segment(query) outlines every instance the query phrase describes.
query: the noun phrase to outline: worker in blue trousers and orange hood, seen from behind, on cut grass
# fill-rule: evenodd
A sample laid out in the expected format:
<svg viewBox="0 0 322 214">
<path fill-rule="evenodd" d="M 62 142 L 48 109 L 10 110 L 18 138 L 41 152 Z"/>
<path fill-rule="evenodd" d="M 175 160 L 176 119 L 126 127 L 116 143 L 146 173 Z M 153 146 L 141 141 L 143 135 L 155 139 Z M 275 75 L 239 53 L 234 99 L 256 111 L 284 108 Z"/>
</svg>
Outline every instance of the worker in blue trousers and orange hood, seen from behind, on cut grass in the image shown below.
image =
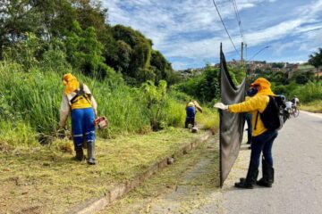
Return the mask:
<svg viewBox="0 0 322 214">
<path fill-rule="evenodd" d="M 97 103 L 89 87 L 80 83 L 71 73 L 62 78 L 64 92 L 60 109 L 59 127 L 64 128 L 68 115 L 72 116 L 72 139 L 76 152 L 75 160 L 83 161 L 83 142 L 88 148 L 87 162 L 96 164 L 95 160 L 95 126 Z"/>
</svg>

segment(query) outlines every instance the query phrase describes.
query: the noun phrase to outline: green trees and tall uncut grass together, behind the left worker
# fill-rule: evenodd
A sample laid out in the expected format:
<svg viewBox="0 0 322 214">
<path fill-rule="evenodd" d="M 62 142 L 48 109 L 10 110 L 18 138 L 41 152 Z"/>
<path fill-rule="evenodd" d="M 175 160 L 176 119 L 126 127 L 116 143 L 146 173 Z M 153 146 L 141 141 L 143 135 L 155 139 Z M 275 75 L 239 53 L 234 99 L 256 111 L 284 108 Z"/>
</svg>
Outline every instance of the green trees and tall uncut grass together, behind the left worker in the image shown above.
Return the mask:
<svg viewBox="0 0 322 214">
<path fill-rule="evenodd" d="M 183 127 L 191 96 L 170 89 L 179 80 L 171 64 L 139 31 L 110 26 L 99 2 L 2 1 L 0 11 L 0 150 L 57 136 L 67 72 L 108 117 L 99 136 Z"/>
</svg>

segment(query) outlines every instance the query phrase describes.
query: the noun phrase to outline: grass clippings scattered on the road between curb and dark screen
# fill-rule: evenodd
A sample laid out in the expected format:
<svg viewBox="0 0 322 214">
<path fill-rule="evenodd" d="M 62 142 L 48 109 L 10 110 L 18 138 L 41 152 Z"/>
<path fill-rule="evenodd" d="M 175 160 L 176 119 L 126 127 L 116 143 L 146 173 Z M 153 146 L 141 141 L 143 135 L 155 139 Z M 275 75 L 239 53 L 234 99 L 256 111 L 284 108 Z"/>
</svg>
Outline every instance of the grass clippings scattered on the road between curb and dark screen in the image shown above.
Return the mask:
<svg viewBox="0 0 322 214">
<path fill-rule="evenodd" d="M 215 141 L 216 144 L 209 144 L 209 141 Z M 201 162 L 206 164 L 200 166 Z M 196 168 L 200 170 L 198 173 Z M 194 172 L 191 173 L 191 170 Z M 181 191 L 183 188 L 191 193 L 174 196 L 178 186 Z M 99 213 L 194 213 L 193 209 L 208 204 L 209 194 L 218 191 L 218 186 L 219 149 L 217 138 L 213 138 Z M 177 206 L 174 207 L 174 204 Z M 156 207 L 158 211 L 152 211 Z"/>
</svg>

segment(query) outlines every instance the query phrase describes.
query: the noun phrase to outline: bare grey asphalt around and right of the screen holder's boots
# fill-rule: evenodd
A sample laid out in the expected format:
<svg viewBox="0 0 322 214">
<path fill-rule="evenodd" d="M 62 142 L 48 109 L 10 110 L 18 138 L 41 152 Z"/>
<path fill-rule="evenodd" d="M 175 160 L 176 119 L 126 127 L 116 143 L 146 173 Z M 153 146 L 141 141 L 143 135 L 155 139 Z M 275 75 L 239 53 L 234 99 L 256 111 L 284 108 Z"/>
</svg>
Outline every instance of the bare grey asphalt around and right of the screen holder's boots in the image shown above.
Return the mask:
<svg viewBox="0 0 322 214">
<path fill-rule="evenodd" d="M 248 161 L 249 152 L 241 153 Z M 236 177 L 246 175 L 237 161 L 224 186 L 221 209 L 209 206 L 206 213 L 322 213 L 322 114 L 301 111 L 289 119 L 275 140 L 273 159 L 272 188 L 234 188 Z"/>
</svg>

